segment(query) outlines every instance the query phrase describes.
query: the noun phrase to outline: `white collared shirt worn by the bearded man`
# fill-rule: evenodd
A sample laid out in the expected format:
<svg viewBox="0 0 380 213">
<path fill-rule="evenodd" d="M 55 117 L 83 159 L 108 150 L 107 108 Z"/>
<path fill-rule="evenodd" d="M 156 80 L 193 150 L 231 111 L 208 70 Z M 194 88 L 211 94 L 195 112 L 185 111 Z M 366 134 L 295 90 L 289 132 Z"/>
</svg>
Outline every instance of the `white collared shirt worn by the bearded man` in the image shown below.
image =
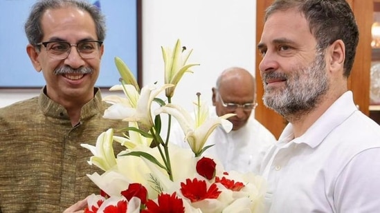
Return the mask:
<svg viewBox="0 0 380 213">
<path fill-rule="evenodd" d="M 266 212 L 380 212 L 380 126 L 345 92 L 303 134 L 266 154 Z"/>
</svg>

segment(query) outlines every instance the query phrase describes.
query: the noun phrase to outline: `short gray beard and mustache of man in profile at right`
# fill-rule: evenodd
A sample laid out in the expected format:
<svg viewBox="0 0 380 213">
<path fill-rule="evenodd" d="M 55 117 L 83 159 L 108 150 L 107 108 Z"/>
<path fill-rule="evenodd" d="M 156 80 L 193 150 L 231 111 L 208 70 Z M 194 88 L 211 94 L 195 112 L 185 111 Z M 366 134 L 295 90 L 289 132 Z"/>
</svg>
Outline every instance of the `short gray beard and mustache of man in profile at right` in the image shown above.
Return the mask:
<svg viewBox="0 0 380 213">
<path fill-rule="evenodd" d="M 288 121 L 300 119 L 316 108 L 329 89 L 325 68 L 325 55 L 319 52 L 309 66 L 288 74 L 275 71 L 264 73 L 263 83 L 266 79 L 286 79 L 284 88 L 269 88 L 264 83 L 264 105 Z"/>
</svg>

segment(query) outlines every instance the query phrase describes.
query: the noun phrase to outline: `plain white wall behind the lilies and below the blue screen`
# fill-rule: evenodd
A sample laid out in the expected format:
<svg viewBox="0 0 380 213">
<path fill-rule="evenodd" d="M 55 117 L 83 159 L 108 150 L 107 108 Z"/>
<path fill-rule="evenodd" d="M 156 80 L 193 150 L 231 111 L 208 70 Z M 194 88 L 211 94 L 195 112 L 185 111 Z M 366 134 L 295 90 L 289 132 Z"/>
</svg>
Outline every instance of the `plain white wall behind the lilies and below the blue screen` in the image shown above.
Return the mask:
<svg viewBox="0 0 380 213">
<path fill-rule="evenodd" d="M 197 92 L 210 102 L 211 88 L 225 68 L 241 66 L 254 74 L 255 11 L 253 0 L 143 1 L 143 84 L 163 83 L 161 45 L 172 47 L 177 39 L 193 49 L 189 62 L 201 64 L 185 74 L 173 99 L 188 110 Z M 0 107 L 38 93 L 0 90 Z"/>
</svg>

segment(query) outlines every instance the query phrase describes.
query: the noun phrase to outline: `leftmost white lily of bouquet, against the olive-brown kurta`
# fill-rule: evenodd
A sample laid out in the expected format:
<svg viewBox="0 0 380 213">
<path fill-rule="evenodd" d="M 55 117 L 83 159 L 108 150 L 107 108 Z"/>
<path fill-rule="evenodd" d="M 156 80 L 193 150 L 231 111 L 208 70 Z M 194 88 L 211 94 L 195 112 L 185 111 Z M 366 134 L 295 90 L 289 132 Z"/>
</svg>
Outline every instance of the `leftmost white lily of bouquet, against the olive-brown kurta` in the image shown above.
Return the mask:
<svg viewBox="0 0 380 213">
<path fill-rule="evenodd" d="M 83 148 L 87 148 L 91 151 L 89 164 L 96 165 L 98 168 L 107 171 L 116 165 L 116 159 L 114 154 L 114 148 L 112 142 L 114 141 L 114 129 L 109 129 L 107 132 L 102 132 L 98 136 L 96 146 L 89 144 L 80 144 Z"/>
</svg>

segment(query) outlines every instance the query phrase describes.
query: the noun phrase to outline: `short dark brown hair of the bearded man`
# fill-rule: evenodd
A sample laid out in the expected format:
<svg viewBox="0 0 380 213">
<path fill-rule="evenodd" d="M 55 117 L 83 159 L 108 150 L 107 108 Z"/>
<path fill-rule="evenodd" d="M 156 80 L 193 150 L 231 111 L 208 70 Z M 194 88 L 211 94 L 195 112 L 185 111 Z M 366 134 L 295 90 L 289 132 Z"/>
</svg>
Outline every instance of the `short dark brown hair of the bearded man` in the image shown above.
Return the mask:
<svg viewBox="0 0 380 213">
<path fill-rule="evenodd" d="M 359 29 L 354 12 L 345 0 L 275 0 L 266 9 L 265 21 L 276 11 L 296 8 L 305 15 L 311 33 L 318 41 L 317 49 L 325 50 L 334 41 L 341 39 L 345 44 L 345 77 L 350 76 L 354 64 Z"/>
</svg>

